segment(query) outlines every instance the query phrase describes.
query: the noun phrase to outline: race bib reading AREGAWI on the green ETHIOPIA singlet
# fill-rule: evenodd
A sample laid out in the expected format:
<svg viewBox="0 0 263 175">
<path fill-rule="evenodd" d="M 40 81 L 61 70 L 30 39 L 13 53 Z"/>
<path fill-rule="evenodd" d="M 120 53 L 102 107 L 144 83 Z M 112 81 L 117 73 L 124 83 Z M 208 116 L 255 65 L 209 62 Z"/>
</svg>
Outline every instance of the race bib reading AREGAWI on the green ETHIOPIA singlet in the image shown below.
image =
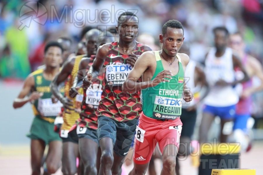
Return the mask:
<svg viewBox="0 0 263 175">
<path fill-rule="evenodd" d="M 182 113 L 182 99 L 155 96 L 153 116 L 158 119 L 174 120 Z"/>
</svg>

